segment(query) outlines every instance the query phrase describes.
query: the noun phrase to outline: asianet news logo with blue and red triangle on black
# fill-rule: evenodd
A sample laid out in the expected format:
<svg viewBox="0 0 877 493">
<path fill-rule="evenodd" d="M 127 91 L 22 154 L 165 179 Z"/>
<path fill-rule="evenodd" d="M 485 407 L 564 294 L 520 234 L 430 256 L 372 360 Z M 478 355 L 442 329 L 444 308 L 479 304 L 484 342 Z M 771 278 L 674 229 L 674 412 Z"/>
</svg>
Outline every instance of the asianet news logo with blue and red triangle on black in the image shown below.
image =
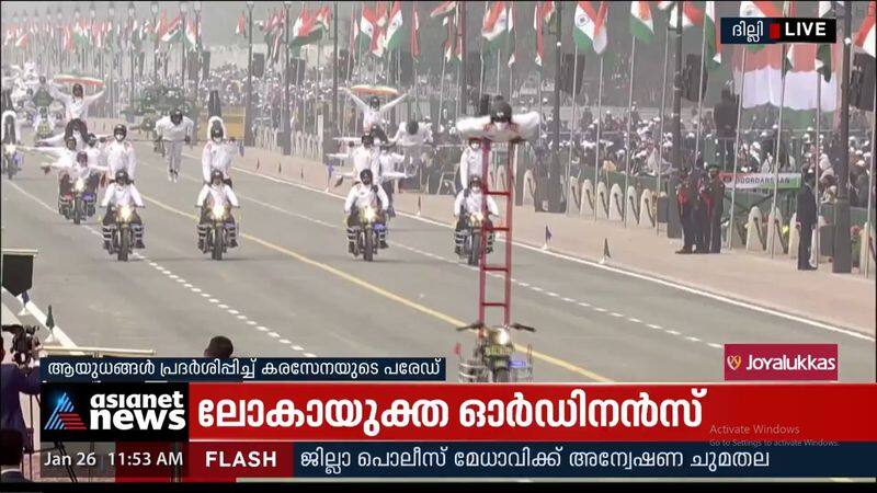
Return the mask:
<svg viewBox="0 0 877 493">
<path fill-rule="evenodd" d="M 46 442 L 189 438 L 185 383 L 44 383 L 41 393 Z"/>
</svg>

